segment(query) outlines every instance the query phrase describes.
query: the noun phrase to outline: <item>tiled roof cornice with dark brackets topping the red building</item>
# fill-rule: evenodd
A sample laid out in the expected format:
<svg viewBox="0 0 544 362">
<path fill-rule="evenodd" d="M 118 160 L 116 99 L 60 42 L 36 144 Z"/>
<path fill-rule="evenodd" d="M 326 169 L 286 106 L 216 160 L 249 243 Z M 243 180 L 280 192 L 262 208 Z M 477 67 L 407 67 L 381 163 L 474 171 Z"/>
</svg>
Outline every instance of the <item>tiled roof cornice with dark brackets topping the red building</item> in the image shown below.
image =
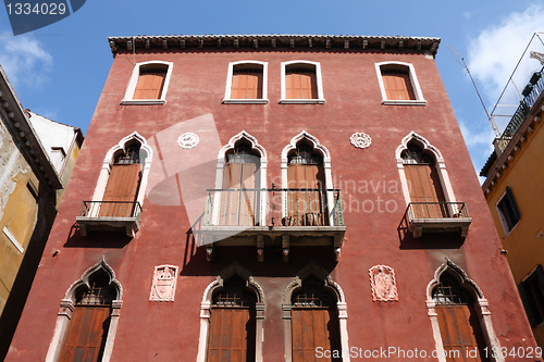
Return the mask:
<svg viewBox="0 0 544 362">
<path fill-rule="evenodd" d="M 115 57 L 120 51 L 186 50 L 202 48 L 232 49 L 312 49 L 321 51 L 396 51 L 436 55 L 440 38 L 404 36 L 359 35 L 163 35 L 109 37 L 110 48 Z"/>
</svg>

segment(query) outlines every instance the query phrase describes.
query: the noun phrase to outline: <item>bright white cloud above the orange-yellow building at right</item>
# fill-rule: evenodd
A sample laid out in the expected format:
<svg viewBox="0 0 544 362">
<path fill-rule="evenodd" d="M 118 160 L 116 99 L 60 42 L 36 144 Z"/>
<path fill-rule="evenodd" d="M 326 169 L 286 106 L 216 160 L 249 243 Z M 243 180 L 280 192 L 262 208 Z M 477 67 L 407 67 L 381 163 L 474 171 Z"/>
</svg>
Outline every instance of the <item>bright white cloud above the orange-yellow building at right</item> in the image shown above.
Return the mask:
<svg viewBox="0 0 544 362">
<path fill-rule="evenodd" d="M 535 32 L 544 30 L 543 18 L 544 8 L 540 3 L 534 3 L 524 12 L 511 13 L 498 25 L 485 28 L 470 41 L 469 67 L 483 86 L 490 101 L 497 100 L 531 36 Z M 533 70 L 534 66 L 539 66 L 536 61 L 531 60 L 531 62 L 529 66 Z M 527 74 L 523 77 L 527 77 Z M 521 87 L 527 80 L 522 82 Z"/>
</svg>

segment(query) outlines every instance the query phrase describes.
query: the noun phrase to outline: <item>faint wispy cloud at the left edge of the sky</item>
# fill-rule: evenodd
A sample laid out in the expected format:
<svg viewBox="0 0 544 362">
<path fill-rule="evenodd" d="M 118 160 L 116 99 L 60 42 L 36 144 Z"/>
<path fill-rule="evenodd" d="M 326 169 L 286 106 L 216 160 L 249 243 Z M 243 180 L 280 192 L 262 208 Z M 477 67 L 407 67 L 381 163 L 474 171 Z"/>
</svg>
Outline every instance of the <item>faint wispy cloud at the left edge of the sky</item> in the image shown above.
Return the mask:
<svg viewBox="0 0 544 362">
<path fill-rule="evenodd" d="M 32 35 L 0 34 L 0 64 L 13 85 L 36 86 L 47 79 L 53 58 Z"/>
</svg>

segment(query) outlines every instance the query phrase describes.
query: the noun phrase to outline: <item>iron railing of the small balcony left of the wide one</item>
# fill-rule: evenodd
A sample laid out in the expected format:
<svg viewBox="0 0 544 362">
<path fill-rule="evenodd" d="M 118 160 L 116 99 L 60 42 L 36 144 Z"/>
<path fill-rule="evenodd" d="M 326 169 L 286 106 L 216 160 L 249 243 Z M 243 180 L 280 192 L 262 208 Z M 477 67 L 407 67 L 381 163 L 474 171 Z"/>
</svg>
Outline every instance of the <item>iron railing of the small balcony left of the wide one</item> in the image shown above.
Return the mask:
<svg viewBox="0 0 544 362">
<path fill-rule="evenodd" d="M 83 201 L 81 217 L 135 217 L 139 221 L 141 205 L 138 201 Z"/>
</svg>

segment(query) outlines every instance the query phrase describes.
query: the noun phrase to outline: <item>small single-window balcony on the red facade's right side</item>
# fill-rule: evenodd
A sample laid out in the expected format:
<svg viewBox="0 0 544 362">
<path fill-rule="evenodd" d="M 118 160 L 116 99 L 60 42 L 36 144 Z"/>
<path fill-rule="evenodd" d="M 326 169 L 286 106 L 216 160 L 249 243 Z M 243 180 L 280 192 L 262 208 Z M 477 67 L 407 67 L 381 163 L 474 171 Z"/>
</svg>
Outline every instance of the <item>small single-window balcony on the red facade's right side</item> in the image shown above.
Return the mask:
<svg viewBox="0 0 544 362">
<path fill-rule="evenodd" d="M 444 232 L 460 232 L 466 238 L 472 222 L 465 202 L 410 202 L 404 220 L 415 238 Z"/>
</svg>

